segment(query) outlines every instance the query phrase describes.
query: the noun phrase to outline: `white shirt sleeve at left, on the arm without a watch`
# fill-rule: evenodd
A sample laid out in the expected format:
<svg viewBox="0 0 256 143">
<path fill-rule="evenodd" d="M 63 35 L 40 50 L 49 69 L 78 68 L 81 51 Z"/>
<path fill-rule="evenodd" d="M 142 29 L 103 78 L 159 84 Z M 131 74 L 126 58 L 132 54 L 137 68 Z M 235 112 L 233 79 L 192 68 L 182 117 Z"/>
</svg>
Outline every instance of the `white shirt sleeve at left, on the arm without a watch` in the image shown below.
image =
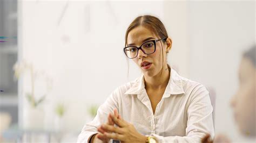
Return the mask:
<svg viewBox="0 0 256 143">
<path fill-rule="evenodd" d="M 82 131 L 78 135 L 77 143 L 89 142 L 92 135 L 98 133 L 97 127 L 103 123 L 106 123 L 109 113 L 113 112 L 115 108 L 118 110 L 117 90 L 112 92 L 110 97 L 99 106 L 96 117 L 84 125 Z"/>
</svg>

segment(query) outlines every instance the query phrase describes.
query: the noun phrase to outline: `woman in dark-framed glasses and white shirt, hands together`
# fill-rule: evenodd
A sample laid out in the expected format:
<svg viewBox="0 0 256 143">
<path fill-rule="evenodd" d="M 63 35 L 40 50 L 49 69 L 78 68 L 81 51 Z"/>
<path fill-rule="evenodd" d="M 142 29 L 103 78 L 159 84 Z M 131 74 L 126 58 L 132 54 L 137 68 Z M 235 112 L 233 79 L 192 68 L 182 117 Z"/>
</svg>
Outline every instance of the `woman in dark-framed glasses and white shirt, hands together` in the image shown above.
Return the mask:
<svg viewBox="0 0 256 143">
<path fill-rule="evenodd" d="M 124 53 L 143 75 L 113 91 L 77 142 L 200 142 L 207 132 L 214 136 L 209 93 L 167 65 L 171 47 L 158 18 L 133 20 Z"/>
</svg>

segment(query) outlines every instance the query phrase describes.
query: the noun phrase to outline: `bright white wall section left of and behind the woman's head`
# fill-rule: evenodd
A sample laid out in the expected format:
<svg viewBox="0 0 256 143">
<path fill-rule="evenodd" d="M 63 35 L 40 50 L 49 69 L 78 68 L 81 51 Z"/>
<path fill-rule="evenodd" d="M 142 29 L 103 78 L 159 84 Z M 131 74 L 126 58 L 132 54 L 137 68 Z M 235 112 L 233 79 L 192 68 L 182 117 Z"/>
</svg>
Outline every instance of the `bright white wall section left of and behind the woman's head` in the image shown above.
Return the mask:
<svg viewBox="0 0 256 143">
<path fill-rule="evenodd" d="M 66 6 L 65 1 L 23 1 L 20 9 L 21 57 L 53 77 L 45 109 L 47 124 L 51 127 L 54 104 L 64 102 L 65 125 L 76 131 L 87 121 L 89 106 L 102 104 L 119 85 L 140 75 L 130 62 L 127 78 L 126 28 L 139 15 L 163 18 L 164 12 L 163 2 L 70 1 Z M 23 92 L 30 88 L 29 82 L 24 78 L 20 84 Z"/>
</svg>

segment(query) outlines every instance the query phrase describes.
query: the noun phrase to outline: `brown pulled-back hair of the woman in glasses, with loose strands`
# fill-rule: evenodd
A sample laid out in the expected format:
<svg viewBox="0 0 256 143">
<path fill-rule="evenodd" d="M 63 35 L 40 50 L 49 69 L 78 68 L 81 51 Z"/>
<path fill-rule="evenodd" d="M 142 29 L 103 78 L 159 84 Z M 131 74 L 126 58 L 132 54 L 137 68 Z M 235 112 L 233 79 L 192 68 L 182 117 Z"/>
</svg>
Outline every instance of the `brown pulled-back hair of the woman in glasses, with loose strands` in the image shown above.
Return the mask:
<svg viewBox="0 0 256 143">
<path fill-rule="evenodd" d="M 157 17 L 150 16 L 150 15 L 144 15 L 144 16 L 139 16 L 139 17 L 135 18 L 133 20 L 133 22 L 127 28 L 126 33 L 125 33 L 125 46 L 127 45 L 127 37 L 128 37 L 129 32 L 138 26 L 144 26 L 146 28 L 149 28 L 160 39 L 168 38 L 168 34 L 166 32 L 164 24 Z M 163 66 L 164 66 L 163 46 L 162 46 L 162 57 L 163 57 L 163 63 L 162 63 L 161 73 L 163 73 Z M 129 75 L 129 63 L 128 63 L 127 75 Z"/>
</svg>

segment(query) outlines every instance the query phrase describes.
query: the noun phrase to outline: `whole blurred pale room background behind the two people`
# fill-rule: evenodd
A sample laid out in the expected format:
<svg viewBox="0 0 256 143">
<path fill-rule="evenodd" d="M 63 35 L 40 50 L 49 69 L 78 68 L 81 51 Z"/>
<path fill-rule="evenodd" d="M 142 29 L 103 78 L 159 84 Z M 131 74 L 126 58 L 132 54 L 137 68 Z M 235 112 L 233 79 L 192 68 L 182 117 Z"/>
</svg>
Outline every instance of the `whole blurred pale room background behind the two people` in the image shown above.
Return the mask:
<svg viewBox="0 0 256 143">
<path fill-rule="evenodd" d="M 160 18 L 169 64 L 210 90 L 215 132 L 255 142 L 230 108 L 242 52 L 255 44 L 255 1 L 71 0 L 0 0 L 0 142 L 76 142 L 111 92 L 141 74 L 123 54 L 140 15 Z"/>
</svg>

